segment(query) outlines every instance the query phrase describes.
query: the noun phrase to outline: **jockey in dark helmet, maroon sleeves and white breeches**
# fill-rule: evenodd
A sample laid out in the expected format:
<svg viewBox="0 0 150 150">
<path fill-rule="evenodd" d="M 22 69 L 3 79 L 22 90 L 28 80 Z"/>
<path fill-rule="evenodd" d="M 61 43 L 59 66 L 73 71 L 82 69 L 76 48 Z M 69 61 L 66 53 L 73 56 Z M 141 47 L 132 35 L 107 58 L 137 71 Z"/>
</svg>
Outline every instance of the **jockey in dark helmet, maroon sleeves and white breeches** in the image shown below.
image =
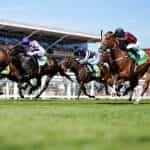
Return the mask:
<svg viewBox="0 0 150 150">
<path fill-rule="evenodd" d="M 118 28 L 115 30 L 114 33 L 115 37 L 120 42 L 120 47 L 127 51 L 131 51 L 136 58 L 139 58 L 138 49 L 139 43 L 137 38 L 130 32 L 125 32 L 122 28 Z"/>
</svg>

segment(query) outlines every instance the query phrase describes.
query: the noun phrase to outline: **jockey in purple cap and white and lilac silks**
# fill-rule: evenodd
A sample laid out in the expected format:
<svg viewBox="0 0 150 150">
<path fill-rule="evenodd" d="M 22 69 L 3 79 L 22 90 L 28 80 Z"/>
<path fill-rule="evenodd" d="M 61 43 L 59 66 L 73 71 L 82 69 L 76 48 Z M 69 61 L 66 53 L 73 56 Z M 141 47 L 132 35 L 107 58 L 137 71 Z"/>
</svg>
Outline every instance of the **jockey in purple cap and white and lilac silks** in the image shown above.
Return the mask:
<svg viewBox="0 0 150 150">
<path fill-rule="evenodd" d="M 29 47 L 27 55 L 37 56 L 38 64 L 40 66 L 45 65 L 45 62 L 47 60 L 46 50 L 36 40 L 30 41 L 28 37 L 24 37 L 21 43 Z M 44 61 L 44 64 L 41 64 L 42 61 Z"/>
</svg>

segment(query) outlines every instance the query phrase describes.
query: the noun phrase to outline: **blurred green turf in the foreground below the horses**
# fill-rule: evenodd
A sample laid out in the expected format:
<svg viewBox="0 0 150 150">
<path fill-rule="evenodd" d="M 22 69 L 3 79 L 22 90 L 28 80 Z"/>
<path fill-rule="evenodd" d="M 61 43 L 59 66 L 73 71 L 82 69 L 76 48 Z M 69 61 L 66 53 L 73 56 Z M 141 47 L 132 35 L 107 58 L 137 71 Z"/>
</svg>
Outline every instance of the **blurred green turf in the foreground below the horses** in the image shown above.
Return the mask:
<svg viewBox="0 0 150 150">
<path fill-rule="evenodd" d="M 149 150 L 150 101 L 0 100 L 0 150 Z"/>
</svg>

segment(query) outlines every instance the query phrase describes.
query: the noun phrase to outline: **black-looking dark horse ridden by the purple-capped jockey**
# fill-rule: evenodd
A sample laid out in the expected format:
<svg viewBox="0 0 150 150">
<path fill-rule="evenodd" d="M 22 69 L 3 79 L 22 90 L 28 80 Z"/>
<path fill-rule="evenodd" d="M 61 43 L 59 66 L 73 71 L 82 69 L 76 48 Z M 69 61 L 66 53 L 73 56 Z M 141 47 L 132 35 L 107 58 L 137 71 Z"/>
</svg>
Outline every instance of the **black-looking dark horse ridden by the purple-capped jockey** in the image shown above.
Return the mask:
<svg viewBox="0 0 150 150">
<path fill-rule="evenodd" d="M 46 81 L 41 88 L 40 92 L 35 96 L 35 98 L 39 98 L 40 95 L 46 90 L 48 87 L 48 83 L 52 79 L 54 75 L 58 72 L 61 76 L 65 76 L 67 79 L 72 81 L 72 79 L 60 68 L 55 57 L 47 55 L 47 63 L 41 68 L 38 65 L 37 59 L 35 57 L 28 56 L 26 54 L 28 47 L 24 47 L 22 45 L 18 45 L 10 51 L 11 60 L 14 66 L 19 70 L 19 72 L 23 75 L 24 71 L 27 71 L 27 76 L 22 76 L 21 81 L 28 81 L 28 85 L 30 85 L 29 94 L 32 91 L 38 89 L 41 86 L 41 79 L 44 75 L 46 75 Z M 36 85 L 32 85 L 29 80 L 36 79 Z M 23 98 L 23 94 L 20 93 L 20 96 Z"/>
</svg>

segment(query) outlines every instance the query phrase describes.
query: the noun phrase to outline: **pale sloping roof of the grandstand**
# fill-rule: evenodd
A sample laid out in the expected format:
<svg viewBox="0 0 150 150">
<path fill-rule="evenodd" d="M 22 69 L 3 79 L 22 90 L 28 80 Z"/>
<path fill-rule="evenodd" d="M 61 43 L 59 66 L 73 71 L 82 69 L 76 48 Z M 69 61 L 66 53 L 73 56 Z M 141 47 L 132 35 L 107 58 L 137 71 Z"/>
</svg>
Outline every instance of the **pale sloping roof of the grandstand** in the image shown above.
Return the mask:
<svg viewBox="0 0 150 150">
<path fill-rule="evenodd" d="M 55 29 L 31 24 L 29 25 L 5 20 L 0 20 L 0 31 L 14 33 L 22 36 L 36 32 L 34 36 L 36 35 L 45 39 L 59 39 L 63 36 L 66 36 L 65 40 L 70 42 L 99 42 L 99 36 L 94 34 L 66 31 L 63 29 Z"/>
</svg>

